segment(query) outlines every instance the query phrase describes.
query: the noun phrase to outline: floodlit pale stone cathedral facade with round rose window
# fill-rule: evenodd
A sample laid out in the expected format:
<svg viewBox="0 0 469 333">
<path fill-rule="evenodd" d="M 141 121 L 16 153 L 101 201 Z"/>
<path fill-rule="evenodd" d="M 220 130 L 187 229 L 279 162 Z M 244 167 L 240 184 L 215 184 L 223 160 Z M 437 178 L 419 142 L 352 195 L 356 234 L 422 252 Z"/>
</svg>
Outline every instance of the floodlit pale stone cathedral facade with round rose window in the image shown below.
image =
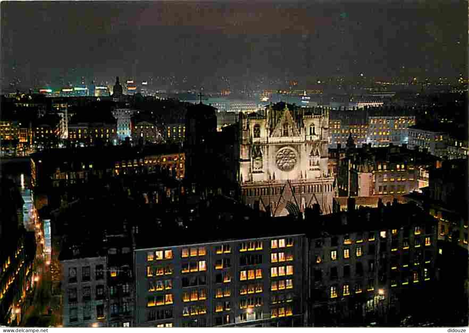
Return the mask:
<svg viewBox="0 0 469 333">
<path fill-rule="evenodd" d="M 329 110 L 283 103 L 239 120 L 243 201 L 273 216 L 303 212 L 319 203 L 332 211 L 333 177 L 327 169 Z"/>
</svg>

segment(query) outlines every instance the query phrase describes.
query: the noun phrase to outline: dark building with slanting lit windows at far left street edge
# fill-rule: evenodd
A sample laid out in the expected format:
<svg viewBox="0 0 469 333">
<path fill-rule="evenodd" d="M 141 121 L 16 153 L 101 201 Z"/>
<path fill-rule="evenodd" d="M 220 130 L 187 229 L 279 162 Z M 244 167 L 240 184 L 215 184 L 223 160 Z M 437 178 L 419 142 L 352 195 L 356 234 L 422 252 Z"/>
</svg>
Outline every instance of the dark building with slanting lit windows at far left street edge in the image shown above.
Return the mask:
<svg viewBox="0 0 469 333">
<path fill-rule="evenodd" d="M 0 323 L 19 326 L 34 289 L 34 233 L 23 226 L 23 199 L 17 185 L 0 179 Z"/>
</svg>

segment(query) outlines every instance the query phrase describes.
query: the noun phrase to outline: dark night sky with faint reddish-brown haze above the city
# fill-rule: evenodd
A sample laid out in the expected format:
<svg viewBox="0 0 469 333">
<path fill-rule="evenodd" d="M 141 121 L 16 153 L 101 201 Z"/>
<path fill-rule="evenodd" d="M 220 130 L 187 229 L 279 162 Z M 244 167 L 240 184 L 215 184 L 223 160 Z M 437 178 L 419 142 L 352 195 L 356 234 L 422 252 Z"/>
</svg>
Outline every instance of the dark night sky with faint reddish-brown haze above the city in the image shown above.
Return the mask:
<svg viewBox="0 0 469 333">
<path fill-rule="evenodd" d="M 467 73 L 467 11 L 452 0 L 3 1 L 3 83 L 453 77 Z"/>
</svg>

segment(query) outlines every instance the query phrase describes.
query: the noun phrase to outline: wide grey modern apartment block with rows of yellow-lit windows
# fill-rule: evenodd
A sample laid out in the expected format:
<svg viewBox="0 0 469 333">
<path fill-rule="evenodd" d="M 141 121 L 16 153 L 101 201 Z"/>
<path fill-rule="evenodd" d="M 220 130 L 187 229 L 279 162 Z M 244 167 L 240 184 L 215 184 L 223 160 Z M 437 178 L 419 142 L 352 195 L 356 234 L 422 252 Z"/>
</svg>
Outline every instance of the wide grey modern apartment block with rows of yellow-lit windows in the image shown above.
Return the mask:
<svg viewBox="0 0 469 333">
<path fill-rule="evenodd" d="M 304 234 L 274 236 L 248 223 L 237 224 L 241 232 L 221 228 L 216 240 L 180 228 L 178 237 L 139 244 L 140 230 L 136 326 L 304 326 Z"/>
</svg>

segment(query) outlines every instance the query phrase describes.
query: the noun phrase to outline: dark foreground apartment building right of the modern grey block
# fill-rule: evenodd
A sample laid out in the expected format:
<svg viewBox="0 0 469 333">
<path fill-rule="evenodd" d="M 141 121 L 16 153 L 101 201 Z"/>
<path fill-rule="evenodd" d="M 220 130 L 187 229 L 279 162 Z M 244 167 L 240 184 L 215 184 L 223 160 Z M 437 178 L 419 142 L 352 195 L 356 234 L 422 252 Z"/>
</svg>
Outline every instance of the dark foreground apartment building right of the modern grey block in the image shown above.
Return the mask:
<svg viewBox="0 0 469 333">
<path fill-rule="evenodd" d="M 412 203 L 348 205 L 314 223 L 309 324 L 396 324 L 436 288 L 437 222 Z"/>
</svg>

